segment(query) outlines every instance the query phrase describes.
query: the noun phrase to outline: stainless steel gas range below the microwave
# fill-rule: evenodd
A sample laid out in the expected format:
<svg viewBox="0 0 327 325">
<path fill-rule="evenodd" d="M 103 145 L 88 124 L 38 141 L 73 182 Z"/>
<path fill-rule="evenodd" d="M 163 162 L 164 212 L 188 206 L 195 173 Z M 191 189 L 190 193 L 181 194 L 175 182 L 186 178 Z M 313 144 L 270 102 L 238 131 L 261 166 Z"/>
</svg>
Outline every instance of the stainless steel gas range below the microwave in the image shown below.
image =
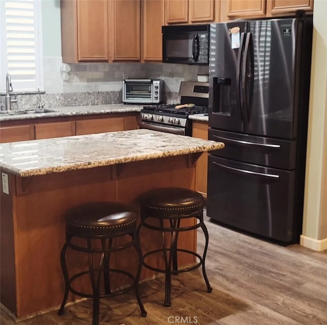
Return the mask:
<svg viewBox="0 0 327 325">
<path fill-rule="evenodd" d="M 189 115 L 208 112 L 209 84 L 181 81 L 179 96 L 178 104 L 144 106 L 139 127 L 191 136 L 192 120 Z"/>
</svg>

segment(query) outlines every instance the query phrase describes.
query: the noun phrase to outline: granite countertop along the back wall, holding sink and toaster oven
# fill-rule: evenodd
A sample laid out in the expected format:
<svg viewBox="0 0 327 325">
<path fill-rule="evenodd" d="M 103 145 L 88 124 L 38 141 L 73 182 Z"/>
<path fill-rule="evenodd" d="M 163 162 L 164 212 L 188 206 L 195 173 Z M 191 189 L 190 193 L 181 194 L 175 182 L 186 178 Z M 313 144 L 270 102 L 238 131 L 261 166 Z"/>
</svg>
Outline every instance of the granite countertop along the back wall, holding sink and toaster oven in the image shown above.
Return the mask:
<svg viewBox="0 0 327 325">
<path fill-rule="evenodd" d="M 42 119 L 42 118 L 57 118 L 73 115 L 91 115 L 91 114 L 107 114 L 107 113 L 129 113 L 139 112 L 144 105 L 137 104 L 103 104 L 103 105 L 85 105 L 85 106 L 61 106 L 61 107 L 46 107 L 45 109 L 52 110 L 47 113 L 24 113 L 24 114 L 0 114 L 0 122 L 15 121 L 26 119 Z M 20 112 L 23 112 L 21 110 Z"/>
</svg>

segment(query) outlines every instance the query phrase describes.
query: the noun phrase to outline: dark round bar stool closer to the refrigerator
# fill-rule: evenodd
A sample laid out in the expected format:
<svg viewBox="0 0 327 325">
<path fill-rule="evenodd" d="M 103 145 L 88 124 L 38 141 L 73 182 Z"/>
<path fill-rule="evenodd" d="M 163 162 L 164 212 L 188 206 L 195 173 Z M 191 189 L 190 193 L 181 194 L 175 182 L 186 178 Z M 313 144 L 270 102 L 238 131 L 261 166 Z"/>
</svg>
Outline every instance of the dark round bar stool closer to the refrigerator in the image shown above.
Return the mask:
<svg viewBox="0 0 327 325">
<path fill-rule="evenodd" d="M 212 292 L 206 272 L 205 256 L 208 247 L 208 231 L 203 222 L 203 197 L 201 194 L 182 188 L 160 188 L 143 193 L 139 197 L 141 208 L 141 224 L 137 228 L 139 238 L 142 227 L 160 231 L 161 248 L 151 250 L 143 255 L 143 265 L 153 271 L 165 273 L 165 307 L 171 306 L 171 275 L 181 272 L 192 271 L 202 265 L 202 273 L 208 292 Z M 198 223 L 192 226 L 181 226 L 180 221 L 188 218 L 197 218 Z M 159 222 L 159 225 L 151 224 L 151 219 Z M 205 236 L 205 246 L 202 257 L 191 250 L 177 248 L 178 234 L 180 231 L 188 231 L 201 227 Z M 170 242 L 167 235 L 170 234 Z M 149 265 L 146 258 L 156 253 L 163 253 L 165 269 Z M 177 252 L 193 254 L 199 262 L 191 267 L 178 269 Z"/>
</svg>

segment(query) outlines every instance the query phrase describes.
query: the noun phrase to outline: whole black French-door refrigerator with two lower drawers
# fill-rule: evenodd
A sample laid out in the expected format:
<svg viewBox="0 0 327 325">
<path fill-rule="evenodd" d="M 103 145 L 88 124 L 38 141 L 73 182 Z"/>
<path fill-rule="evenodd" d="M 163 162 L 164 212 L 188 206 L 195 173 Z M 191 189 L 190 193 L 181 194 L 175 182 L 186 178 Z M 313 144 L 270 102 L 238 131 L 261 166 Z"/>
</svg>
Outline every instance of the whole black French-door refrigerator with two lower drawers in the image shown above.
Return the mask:
<svg viewBox="0 0 327 325">
<path fill-rule="evenodd" d="M 281 244 L 302 227 L 312 17 L 211 24 L 207 215 Z"/>
</svg>

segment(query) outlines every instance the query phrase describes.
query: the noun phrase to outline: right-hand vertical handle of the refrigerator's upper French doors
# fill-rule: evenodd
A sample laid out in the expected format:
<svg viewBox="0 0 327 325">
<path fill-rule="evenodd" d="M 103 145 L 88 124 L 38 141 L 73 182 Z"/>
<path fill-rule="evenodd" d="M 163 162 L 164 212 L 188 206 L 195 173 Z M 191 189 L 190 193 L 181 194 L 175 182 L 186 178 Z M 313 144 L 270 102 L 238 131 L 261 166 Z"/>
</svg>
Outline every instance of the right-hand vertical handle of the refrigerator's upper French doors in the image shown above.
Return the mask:
<svg viewBox="0 0 327 325">
<path fill-rule="evenodd" d="M 245 106 L 245 113 L 247 116 L 247 121 L 250 121 L 250 99 L 247 99 L 247 87 L 246 87 L 246 78 L 251 78 L 251 84 L 250 84 L 250 96 L 252 96 L 252 91 L 253 91 L 253 47 L 250 48 L 250 44 L 252 45 L 252 34 L 251 33 L 246 33 L 246 39 L 245 39 L 245 47 L 244 47 L 244 58 L 243 58 L 243 64 L 242 64 L 242 98 L 243 98 L 243 103 Z M 247 58 L 248 58 L 248 53 L 250 49 L 250 74 L 249 76 L 246 75 L 246 67 L 247 67 Z"/>
</svg>

